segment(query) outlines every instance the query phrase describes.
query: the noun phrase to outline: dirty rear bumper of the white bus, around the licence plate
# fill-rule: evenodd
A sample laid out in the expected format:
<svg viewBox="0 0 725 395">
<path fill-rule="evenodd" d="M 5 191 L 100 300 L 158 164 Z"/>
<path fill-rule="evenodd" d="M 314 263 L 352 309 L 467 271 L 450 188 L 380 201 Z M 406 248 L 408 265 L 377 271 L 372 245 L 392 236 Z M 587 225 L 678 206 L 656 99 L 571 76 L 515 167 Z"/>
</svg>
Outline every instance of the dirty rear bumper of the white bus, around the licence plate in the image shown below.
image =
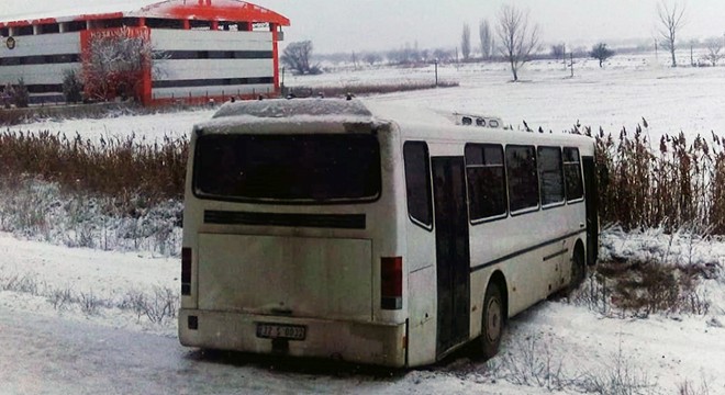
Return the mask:
<svg viewBox="0 0 725 395">
<path fill-rule="evenodd" d="M 304 327 L 303 340 L 259 337 L 258 324 Z M 196 328 L 196 329 L 193 329 Z M 406 325 L 252 315 L 181 308 L 183 346 L 405 366 Z"/>
</svg>

